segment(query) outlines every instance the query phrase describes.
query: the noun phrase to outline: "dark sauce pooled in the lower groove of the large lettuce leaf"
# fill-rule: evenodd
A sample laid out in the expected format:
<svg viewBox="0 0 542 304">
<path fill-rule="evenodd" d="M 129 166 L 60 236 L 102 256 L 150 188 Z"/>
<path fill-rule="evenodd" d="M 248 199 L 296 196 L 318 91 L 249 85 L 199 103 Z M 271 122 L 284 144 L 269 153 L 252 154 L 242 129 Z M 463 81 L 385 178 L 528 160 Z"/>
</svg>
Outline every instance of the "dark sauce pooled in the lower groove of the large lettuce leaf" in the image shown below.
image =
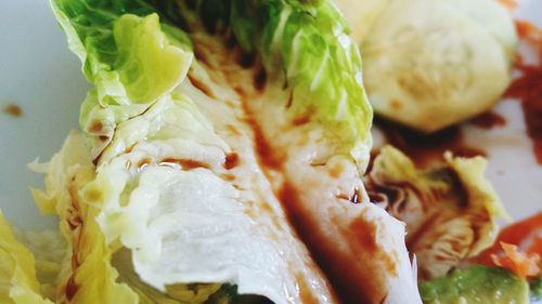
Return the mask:
<svg viewBox="0 0 542 304">
<path fill-rule="evenodd" d="M 387 253 L 377 246 L 375 224 L 360 216 L 351 225 L 341 228 L 340 235 L 348 239 L 346 252 L 337 248 L 326 234 L 318 233 L 318 216 L 313 216 L 299 193 L 288 183 L 283 184 L 279 198 L 286 211 L 288 222 L 295 227 L 304 240 L 310 254 L 328 278 L 340 303 L 378 303 L 386 298 L 385 277 L 382 265 L 391 274 L 396 274 L 396 264 Z M 340 221 L 336 219 L 335 221 Z M 333 219 L 332 219 L 333 221 Z M 340 225 L 337 225 L 340 227 Z M 356 254 L 360 263 L 352 264 L 345 255 Z M 366 261 L 383 263 L 366 263 Z M 370 275 L 367 275 L 370 274 Z M 371 280 L 366 278 L 371 277 Z M 363 288 L 360 288 L 363 286 Z"/>
</svg>

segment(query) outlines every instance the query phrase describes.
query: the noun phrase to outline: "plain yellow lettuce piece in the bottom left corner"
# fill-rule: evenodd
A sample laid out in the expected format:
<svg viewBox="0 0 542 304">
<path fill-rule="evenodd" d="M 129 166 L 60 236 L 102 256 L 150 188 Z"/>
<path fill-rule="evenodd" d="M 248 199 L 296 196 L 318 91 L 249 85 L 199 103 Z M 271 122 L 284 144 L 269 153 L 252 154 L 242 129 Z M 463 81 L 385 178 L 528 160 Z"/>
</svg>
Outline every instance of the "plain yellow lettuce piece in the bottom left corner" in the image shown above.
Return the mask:
<svg viewBox="0 0 542 304">
<path fill-rule="evenodd" d="M 0 211 L 0 303 L 52 304 L 40 294 L 33 253 L 15 238 Z"/>
</svg>

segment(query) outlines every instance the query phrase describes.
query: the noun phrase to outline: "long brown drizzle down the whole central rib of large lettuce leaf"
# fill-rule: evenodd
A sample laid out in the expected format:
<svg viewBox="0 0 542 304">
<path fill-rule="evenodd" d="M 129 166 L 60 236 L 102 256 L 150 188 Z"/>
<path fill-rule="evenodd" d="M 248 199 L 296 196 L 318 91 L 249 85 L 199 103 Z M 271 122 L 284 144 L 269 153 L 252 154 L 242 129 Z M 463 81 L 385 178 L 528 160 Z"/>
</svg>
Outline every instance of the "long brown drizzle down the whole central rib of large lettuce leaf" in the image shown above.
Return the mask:
<svg viewBox="0 0 542 304">
<path fill-rule="evenodd" d="M 236 51 L 236 49 L 232 50 L 232 52 Z M 235 58 L 238 58 L 238 56 L 233 60 Z M 228 63 L 231 64 L 231 62 Z M 247 58 L 244 65 L 251 65 L 251 60 Z M 229 79 L 228 74 L 232 72 L 231 67 L 220 66 L 218 68 L 223 69 L 227 79 Z M 235 69 L 233 69 L 233 71 L 235 71 Z M 257 95 L 253 94 L 260 94 L 261 92 L 258 92 L 258 90 L 253 91 L 253 89 L 257 88 L 247 87 L 255 83 L 236 84 L 238 82 L 235 81 L 235 79 L 231 80 L 231 83 L 242 101 L 241 106 L 245 114 L 244 120 L 248 127 L 250 127 L 250 131 L 254 135 L 254 147 L 260 167 L 263 169 L 266 175 L 273 170 L 282 169 L 287 158 L 287 149 L 275 149 L 275 147 L 271 145 L 259 121 L 253 116 L 249 107 L 250 100 L 257 97 Z M 291 106 L 292 102 L 293 94 L 291 94 L 288 105 L 286 106 Z M 268 177 L 269 176 L 272 175 L 270 174 Z M 363 252 L 363 244 L 360 243 L 360 240 L 357 240 L 357 234 L 359 232 L 352 232 L 348 223 L 341 223 L 340 221 L 344 219 L 341 219 L 339 214 L 335 217 L 331 216 L 332 219 L 324 219 L 336 222 L 333 226 L 337 227 L 339 232 L 334 233 L 335 237 L 348 240 L 353 239 L 351 241 L 352 243 L 348 241 L 345 242 L 345 246 L 341 246 L 343 243 L 339 246 L 336 238 L 330 237 L 328 234 L 322 230 L 322 217 L 315 215 L 313 210 L 310 210 L 311 206 L 304 201 L 301 193 L 298 193 L 295 186 L 286 181 L 282 184 L 282 187 L 276 189 L 275 194 L 287 214 L 289 224 L 293 225 L 299 238 L 308 247 L 317 265 L 324 270 L 326 278 L 332 282 L 330 289 L 331 295 L 333 296 L 332 302 L 338 302 L 335 300 L 335 294 L 339 294 L 343 300 L 338 303 L 379 303 L 386 299 L 386 270 L 384 270 L 383 267 L 391 269 L 392 264 L 387 266 L 380 264 L 386 263 L 386 261 L 377 262 L 376 264 L 366 263 L 366 261 L 373 261 L 375 259 L 371 255 L 375 252 Z M 352 201 L 358 201 L 358 197 L 359 194 L 354 191 L 354 195 L 350 197 L 350 199 Z M 363 219 L 359 221 L 363 221 Z M 367 222 L 367 225 L 373 224 L 374 229 L 375 223 Z M 380 248 L 377 249 L 380 250 Z M 353 256 L 356 256 L 356 259 L 353 259 Z M 376 259 L 378 259 L 378 256 Z M 388 256 L 388 259 L 393 262 L 393 256 Z M 352 261 L 354 264 L 353 266 Z M 302 285 L 300 281 L 298 281 L 298 283 Z M 306 293 L 304 292 L 304 287 L 300 287 L 301 300 L 304 302 L 310 301 L 309 299 L 305 299 L 304 293 Z"/>
</svg>

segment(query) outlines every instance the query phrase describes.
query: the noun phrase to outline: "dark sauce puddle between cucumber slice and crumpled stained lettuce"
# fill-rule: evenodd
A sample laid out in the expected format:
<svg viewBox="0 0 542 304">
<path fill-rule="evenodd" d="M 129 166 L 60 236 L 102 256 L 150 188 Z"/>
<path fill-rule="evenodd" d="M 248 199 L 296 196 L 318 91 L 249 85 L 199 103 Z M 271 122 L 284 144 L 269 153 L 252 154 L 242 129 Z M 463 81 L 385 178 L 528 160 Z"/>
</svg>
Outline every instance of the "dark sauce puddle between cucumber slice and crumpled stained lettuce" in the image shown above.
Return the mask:
<svg viewBox="0 0 542 304">
<path fill-rule="evenodd" d="M 386 135 L 388 143 L 408 155 L 418 167 L 442 162 L 447 150 L 457 157 L 487 156 L 486 151 L 468 146 L 460 127 L 454 125 L 437 133 L 423 134 L 405 127 L 376 118 L 374 124 Z"/>
</svg>

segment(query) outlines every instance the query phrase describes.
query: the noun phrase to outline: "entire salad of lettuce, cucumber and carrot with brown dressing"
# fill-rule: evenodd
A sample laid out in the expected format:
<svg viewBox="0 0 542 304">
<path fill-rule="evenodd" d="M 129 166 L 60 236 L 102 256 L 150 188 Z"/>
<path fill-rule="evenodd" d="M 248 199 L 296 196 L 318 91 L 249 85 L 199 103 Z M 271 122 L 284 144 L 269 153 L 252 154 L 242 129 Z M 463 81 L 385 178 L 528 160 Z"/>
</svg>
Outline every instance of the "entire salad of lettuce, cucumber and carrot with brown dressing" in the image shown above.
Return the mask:
<svg viewBox="0 0 542 304">
<path fill-rule="evenodd" d="M 25 232 L 0 212 L 0 303 L 542 296 L 541 214 L 499 234 L 509 216 L 483 156 L 452 150 L 422 166 L 397 147 L 373 149 L 373 108 L 430 133 L 503 94 L 518 38 L 494 2 L 50 4 L 91 88 L 79 130 L 29 164 L 44 175 L 36 204 L 59 230 Z M 433 19 L 405 34 L 427 5 Z M 438 35 L 421 30 L 437 19 Z M 431 66 L 416 77 L 437 76 L 410 90 L 420 79 L 395 64 L 441 34 L 464 49 L 443 63 L 421 56 L 413 65 Z M 409 39 L 385 45 L 397 36 Z"/>
</svg>

